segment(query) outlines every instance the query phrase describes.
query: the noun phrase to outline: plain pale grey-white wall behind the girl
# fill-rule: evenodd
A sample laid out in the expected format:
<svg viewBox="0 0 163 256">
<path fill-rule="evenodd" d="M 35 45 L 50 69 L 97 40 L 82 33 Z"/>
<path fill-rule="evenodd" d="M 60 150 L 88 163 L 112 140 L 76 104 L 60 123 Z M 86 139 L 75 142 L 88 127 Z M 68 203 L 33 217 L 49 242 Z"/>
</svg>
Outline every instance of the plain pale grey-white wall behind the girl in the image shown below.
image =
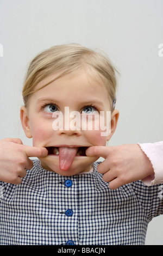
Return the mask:
<svg viewBox="0 0 163 256">
<path fill-rule="evenodd" d="M 0 139 L 32 145 L 19 118 L 28 64 L 70 42 L 100 48 L 121 73 L 120 119 L 109 145 L 162 141 L 162 0 L 0 0 Z M 149 224 L 146 245 L 163 245 L 162 216 Z"/>
</svg>

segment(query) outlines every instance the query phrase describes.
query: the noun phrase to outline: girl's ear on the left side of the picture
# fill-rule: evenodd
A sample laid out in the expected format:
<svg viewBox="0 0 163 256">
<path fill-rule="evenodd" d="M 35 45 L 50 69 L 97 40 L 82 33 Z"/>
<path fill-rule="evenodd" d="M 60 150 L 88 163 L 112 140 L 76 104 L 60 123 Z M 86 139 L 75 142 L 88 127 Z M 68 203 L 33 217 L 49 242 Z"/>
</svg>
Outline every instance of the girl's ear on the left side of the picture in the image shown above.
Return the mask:
<svg viewBox="0 0 163 256">
<path fill-rule="evenodd" d="M 21 118 L 23 130 L 26 133 L 26 136 L 28 138 L 32 138 L 32 133 L 30 131 L 30 123 L 28 118 L 28 111 L 27 111 L 27 108 L 24 106 L 22 106 L 20 109 L 20 118 Z"/>
</svg>

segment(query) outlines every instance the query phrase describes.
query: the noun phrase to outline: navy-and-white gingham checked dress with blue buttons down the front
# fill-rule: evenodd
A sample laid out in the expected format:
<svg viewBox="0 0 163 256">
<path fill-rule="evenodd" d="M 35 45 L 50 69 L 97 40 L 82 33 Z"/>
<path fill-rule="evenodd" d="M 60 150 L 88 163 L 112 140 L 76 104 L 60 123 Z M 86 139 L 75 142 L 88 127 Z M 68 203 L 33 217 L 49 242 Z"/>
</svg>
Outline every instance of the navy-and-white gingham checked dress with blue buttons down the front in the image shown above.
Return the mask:
<svg viewBox="0 0 163 256">
<path fill-rule="evenodd" d="M 144 245 L 148 222 L 162 214 L 159 185 L 137 181 L 110 190 L 98 164 L 90 174 L 67 177 L 34 160 L 20 185 L 1 182 L 0 244 Z"/>
</svg>

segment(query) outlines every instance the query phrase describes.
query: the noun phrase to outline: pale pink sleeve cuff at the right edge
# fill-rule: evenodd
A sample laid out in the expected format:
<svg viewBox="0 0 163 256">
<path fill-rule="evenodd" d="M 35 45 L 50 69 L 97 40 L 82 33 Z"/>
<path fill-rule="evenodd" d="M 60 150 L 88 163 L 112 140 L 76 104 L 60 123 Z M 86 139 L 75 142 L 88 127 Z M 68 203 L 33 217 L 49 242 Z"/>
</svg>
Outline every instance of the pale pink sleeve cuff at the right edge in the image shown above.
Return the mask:
<svg viewBox="0 0 163 256">
<path fill-rule="evenodd" d="M 137 143 L 152 163 L 154 174 L 142 181 L 147 186 L 163 183 L 163 141 L 156 143 Z"/>
</svg>

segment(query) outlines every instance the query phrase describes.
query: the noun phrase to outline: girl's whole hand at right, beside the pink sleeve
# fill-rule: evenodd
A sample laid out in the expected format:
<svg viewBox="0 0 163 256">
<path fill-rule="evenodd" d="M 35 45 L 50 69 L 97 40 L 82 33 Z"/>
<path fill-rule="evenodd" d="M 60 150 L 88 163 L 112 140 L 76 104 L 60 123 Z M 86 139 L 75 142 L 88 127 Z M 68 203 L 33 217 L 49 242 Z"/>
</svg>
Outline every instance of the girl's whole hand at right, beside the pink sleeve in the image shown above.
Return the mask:
<svg viewBox="0 0 163 256">
<path fill-rule="evenodd" d="M 103 180 L 112 190 L 154 174 L 151 161 L 138 144 L 116 147 L 93 146 L 86 150 L 87 156 L 99 156 L 105 160 L 97 167 Z"/>
</svg>

